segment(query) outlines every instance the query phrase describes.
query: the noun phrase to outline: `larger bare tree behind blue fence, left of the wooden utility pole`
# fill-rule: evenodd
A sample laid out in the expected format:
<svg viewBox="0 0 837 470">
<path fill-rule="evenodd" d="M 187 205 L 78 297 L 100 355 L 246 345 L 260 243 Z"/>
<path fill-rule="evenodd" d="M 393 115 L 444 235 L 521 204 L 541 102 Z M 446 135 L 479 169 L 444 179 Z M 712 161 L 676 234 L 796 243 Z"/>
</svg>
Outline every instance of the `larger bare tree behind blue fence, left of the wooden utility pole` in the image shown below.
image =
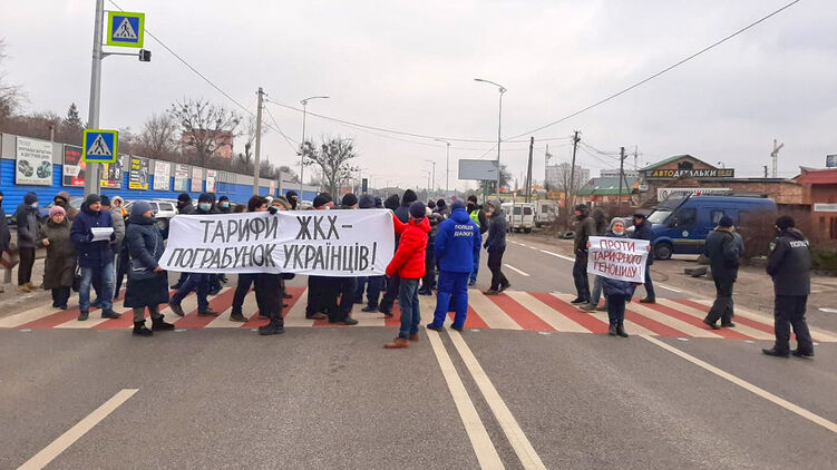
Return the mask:
<svg viewBox="0 0 837 470">
<path fill-rule="evenodd" d="M 241 136 L 241 117 L 234 110 L 203 99 L 176 101 L 168 114 L 179 125 L 182 143 L 194 151 L 198 164 L 208 161 L 225 146 L 232 148 L 233 138 Z"/>
</svg>

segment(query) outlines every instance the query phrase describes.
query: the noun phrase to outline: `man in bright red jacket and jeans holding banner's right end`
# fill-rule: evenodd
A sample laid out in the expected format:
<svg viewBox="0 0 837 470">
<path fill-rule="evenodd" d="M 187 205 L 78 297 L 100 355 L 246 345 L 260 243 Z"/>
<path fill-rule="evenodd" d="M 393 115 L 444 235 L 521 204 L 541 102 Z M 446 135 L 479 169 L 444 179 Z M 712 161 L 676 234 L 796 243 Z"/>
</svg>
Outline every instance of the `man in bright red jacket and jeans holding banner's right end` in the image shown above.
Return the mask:
<svg viewBox="0 0 837 470">
<path fill-rule="evenodd" d="M 401 306 L 401 329 L 398 337 L 383 345 L 387 349 L 407 347 L 410 341 L 418 341 L 418 325 L 421 321 L 418 303 L 419 280 L 425 276 L 425 253 L 430 222 L 426 217 L 427 207 L 421 202 L 410 204 L 410 218 L 403 224 L 395 215 L 396 233 L 401 236 L 392 261 L 387 266 L 387 275 L 401 280 L 398 287 L 398 303 Z"/>
</svg>

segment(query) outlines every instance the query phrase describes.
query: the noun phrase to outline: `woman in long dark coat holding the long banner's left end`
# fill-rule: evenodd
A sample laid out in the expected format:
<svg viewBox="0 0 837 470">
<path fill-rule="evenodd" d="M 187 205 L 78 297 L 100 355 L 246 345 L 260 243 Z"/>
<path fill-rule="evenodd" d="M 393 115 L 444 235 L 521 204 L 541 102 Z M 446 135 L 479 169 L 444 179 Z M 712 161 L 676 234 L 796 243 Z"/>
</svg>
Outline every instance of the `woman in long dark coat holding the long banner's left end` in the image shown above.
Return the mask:
<svg viewBox="0 0 837 470">
<path fill-rule="evenodd" d="M 167 276 L 159 266 L 165 245 L 164 234 L 154 221 L 150 204 L 137 200 L 130 207 L 130 223 L 125 231 L 128 246 L 128 285 L 125 291 L 126 307 L 134 310 L 136 336 L 150 336 L 155 331 L 174 330 L 159 313 L 159 304 L 168 302 Z M 145 311 L 152 317 L 152 329 L 145 326 Z"/>
</svg>

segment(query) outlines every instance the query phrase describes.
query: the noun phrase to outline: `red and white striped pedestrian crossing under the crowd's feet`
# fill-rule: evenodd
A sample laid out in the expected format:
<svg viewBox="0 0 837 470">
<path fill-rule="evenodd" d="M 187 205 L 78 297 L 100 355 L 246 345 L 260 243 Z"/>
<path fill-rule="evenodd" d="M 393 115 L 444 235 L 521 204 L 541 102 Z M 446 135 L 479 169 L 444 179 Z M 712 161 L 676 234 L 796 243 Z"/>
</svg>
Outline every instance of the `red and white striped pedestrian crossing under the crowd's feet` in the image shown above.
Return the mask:
<svg viewBox="0 0 837 470">
<path fill-rule="evenodd" d="M 124 293 L 124 291 L 123 291 Z M 344 327 L 330 324 L 328 320 L 305 319 L 308 290 L 289 287 L 288 307 L 283 310 L 286 327 Z M 210 307 L 221 312 L 218 316 L 197 315 L 197 298 L 194 294 L 186 296 L 181 306 L 186 315 L 176 316 L 167 304 L 160 305 L 160 313 L 167 322 L 177 329 L 254 329 L 267 323 L 259 316 L 255 295 L 244 300 L 243 311 L 251 315 L 245 323 L 230 320 L 235 288 L 225 287 L 218 295 L 210 298 Z M 507 291 L 499 295 L 485 295 L 479 291 L 468 293 L 468 316 L 466 329 L 473 330 L 516 330 L 563 333 L 607 333 L 606 312 L 583 312 L 570 302 L 573 295 L 561 293 L 529 293 Z M 419 296 L 421 323 L 432 320 L 436 297 Z M 359 326 L 381 327 L 400 325 L 400 311 L 396 304 L 391 319 L 378 312 L 360 312 L 356 305 L 352 316 Z M 736 309 L 734 329 L 710 330 L 703 324 L 711 301 L 658 298 L 655 304 L 633 302 L 625 309 L 625 329 L 632 334 L 648 334 L 668 337 L 704 337 L 729 340 L 773 340 L 772 319 L 748 310 Z M 100 319 L 97 310 L 90 310 L 90 317 L 77 321 L 78 305 L 66 311 L 51 307 L 45 301 L 27 311 L 0 319 L 0 329 L 42 330 L 124 330 L 134 324 L 133 312 L 121 301 L 114 303 L 114 310 L 123 314 L 120 319 Z M 452 313 L 448 317 L 452 320 Z M 147 312 L 146 312 L 147 316 Z M 811 329 L 817 342 L 837 342 L 837 334 L 820 329 Z"/>
</svg>

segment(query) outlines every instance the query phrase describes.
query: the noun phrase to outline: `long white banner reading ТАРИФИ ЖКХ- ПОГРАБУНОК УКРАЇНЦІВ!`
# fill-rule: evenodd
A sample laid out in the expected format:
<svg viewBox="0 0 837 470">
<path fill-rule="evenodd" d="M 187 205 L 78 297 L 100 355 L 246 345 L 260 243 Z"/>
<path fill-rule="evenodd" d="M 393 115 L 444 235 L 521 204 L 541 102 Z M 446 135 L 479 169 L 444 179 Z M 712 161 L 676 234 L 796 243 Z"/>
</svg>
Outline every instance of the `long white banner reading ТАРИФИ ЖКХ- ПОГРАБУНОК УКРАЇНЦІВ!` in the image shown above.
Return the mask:
<svg viewBox="0 0 837 470">
<path fill-rule="evenodd" d="M 385 209 L 177 215 L 159 265 L 187 273 L 385 274 L 395 252 Z"/>
</svg>

